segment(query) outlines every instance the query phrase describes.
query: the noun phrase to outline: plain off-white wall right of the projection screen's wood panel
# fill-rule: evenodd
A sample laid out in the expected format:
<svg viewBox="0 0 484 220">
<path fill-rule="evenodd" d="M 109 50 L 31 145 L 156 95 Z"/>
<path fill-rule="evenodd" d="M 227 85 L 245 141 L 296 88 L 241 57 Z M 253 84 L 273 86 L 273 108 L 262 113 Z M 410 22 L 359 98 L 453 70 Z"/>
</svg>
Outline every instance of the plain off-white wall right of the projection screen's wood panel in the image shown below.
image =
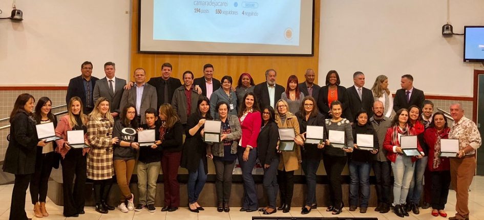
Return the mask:
<svg viewBox="0 0 484 220">
<path fill-rule="evenodd" d="M 484 25 L 484 1 L 451 0 L 454 33 L 465 25 Z M 389 77 L 390 91 L 400 89 L 404 74 L 426 94 L 472 96 L 473 72 L 479 64 L 464 63 L 464 37 L 444 38 L 445 0 L 322 0 L 319 82 L 336 70 L 342 85 L 352 74 L 365 73 L 369 89 L 378 75 Z"/>
</svg>

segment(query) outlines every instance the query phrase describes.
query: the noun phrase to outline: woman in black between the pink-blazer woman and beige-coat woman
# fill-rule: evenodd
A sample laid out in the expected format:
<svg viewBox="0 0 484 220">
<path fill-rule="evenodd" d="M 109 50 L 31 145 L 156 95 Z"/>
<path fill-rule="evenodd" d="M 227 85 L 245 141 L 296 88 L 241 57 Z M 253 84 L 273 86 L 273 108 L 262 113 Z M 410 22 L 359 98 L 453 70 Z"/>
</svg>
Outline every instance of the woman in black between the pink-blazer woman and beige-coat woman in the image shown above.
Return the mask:
<svg viewBox="0 0 484 220">
<path fill-rule="evenodd" d="M 257 138 L 257 156 L 264 164 L 263 185 L 267 193 L 267 207 L 260 209 L 262 214 L 269 215 L 277 212 L 276 199 L 279 185 L 277 183 L 277 166 L 279 165 L 279 153 L 277 153 L 277 141 L 279 139 L 278 127 L 275 121 L 276 114 L 271 106 L 262 110 L 262 127 Z"/>
</svg>

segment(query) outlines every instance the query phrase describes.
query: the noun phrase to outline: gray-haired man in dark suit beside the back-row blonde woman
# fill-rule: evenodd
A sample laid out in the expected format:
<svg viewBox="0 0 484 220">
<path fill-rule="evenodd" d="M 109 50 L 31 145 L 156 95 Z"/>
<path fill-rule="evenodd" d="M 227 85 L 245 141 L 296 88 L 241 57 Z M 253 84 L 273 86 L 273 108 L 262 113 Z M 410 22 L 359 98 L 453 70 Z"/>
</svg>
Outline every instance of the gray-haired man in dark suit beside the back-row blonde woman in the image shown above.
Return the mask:
<svg viewBox="0 0 484 220">
<path fill-rule="evenodd" d="M 356 122 L 356 114 L 361 110 L 365 110 L 368 113 L 368 118 L 373 116 L 373 93 L 371 90 L 363 87 L 365 85 L 365 74 L 362 72 L 355 72 L 353 74 L 354 85 L 346 89 L 348 96 L 348 108 L 347 119 L 351 122 Z"/>
</svg>

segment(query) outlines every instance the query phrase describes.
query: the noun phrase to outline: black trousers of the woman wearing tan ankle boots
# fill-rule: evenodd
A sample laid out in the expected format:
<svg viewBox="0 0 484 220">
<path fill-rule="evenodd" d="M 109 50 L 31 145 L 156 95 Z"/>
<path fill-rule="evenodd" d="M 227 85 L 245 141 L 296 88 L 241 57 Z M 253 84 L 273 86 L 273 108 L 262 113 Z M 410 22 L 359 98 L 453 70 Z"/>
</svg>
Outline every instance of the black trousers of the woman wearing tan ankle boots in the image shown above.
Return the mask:
<svg viewBox="0 0 484 220">
<path fill-rule="evenodd" d="M 32 204 L 46 202 L 49 177 L 54 166 L 54 153 L 56 152 L 42 153 L 42 147 L 37 147 L 35 172 L 32 174 L 29 188 Z"/>
</svg>

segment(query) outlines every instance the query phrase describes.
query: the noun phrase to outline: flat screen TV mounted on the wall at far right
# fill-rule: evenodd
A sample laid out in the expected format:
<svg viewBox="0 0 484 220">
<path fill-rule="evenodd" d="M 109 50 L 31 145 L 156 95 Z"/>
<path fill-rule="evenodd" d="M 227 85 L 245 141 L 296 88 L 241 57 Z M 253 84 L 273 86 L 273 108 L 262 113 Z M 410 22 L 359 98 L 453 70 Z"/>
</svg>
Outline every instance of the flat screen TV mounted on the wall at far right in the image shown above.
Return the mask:
<svg viewBox="0 0 484 220">
<path fill-rule="evenodd" d="M 484 62 L 484 26 L 464 27 L 464 62 Z"/>
</svg>

